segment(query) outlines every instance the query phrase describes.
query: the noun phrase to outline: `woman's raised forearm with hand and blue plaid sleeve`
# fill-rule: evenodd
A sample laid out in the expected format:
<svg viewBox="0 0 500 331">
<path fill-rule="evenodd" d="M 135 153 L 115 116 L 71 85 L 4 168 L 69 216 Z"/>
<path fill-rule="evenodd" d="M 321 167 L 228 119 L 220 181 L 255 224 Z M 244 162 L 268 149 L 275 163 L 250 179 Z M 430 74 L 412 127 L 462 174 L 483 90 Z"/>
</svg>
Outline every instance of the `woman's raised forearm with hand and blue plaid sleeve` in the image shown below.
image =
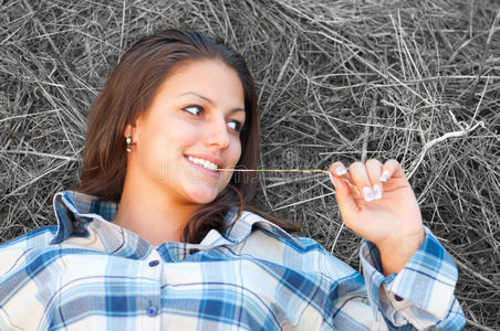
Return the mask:
<svg viewBox="0 0 500 331">
<path fill-rule="evenodd" d="M 375 317 L 382 314 L 393 328 L 459 330 L 457 268 L 424 227 L 400 164 L 369 160 L 347 171 L 335 162 L 330 171 L 344 223 L 366 239 L 361 260 Z"/>
</svg>

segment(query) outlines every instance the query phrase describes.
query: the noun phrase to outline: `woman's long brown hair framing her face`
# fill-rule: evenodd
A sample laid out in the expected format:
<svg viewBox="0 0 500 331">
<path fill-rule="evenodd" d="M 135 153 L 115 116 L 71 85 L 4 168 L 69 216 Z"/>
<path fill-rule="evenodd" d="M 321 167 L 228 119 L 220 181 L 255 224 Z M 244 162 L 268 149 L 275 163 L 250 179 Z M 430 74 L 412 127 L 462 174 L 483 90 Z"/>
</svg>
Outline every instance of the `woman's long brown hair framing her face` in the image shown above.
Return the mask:
<svg viewBox="0 0 500 331">
<path fill-rule="evenodd" d="M 243 86 L 246 124 L 240 134 L 241 157 L 236 168 L 256 169 L 260 152 L 260 124 L 253 78 L 240 54 L 220 39 L 197 32 L 167 30 L 145 36 L 121 58 L 88 116 L 83 149 L 83 169 L 75 191 L 118 203 L 125 181 L 127 157 L 123 132 L 127 124 L 145 111 L 158 87 L 174 66 L 188 61 L 213 58 L 232 67 Z M 235 172 L 229 184 L 210 203 L 202 205 L 184 228 L 183 242 L 199 243 L 211 229 L 228 228 L 223 220 L 230 207 L 238 215 L 248 210 L 283 229 L 300 232 L 300 226 L 249 205 L 257 190 L 254 172 Z"/>
</svg>

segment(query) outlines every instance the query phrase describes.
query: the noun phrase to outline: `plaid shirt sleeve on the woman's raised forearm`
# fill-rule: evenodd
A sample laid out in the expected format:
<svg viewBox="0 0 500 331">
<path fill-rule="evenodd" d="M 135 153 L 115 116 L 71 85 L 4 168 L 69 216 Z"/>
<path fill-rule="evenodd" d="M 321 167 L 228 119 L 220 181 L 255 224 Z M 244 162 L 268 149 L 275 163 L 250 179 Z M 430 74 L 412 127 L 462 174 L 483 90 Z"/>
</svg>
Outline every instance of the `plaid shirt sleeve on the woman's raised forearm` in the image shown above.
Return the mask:
<svg viewBox="0 0 500 331">
<path fill-rule="evenodd" d="M 366 241 L 362 245 L 360 258 L 373 313 L 390 330 L 461 330 L 465 317 L 454 296 L 457 267 L 427 227 L 425 232 L 406 266 L 387 277 L 378 248 Z"/>
</svg>

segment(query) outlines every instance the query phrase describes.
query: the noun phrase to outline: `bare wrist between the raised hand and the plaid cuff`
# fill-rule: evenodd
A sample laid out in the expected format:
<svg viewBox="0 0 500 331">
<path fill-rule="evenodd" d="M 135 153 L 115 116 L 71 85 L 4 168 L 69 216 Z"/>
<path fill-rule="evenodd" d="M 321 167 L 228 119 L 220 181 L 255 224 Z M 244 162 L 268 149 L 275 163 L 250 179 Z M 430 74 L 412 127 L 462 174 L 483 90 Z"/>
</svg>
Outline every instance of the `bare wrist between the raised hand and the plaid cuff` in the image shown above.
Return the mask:
<svg viewBox="0 0 500 331">
<path fill-rule="evenodd" d="M 395 241 L 375 244 L 381 252 L 384 276 L 399 273 L 418 250 L 424 238 L 425 231 L 421 229 L 421 233 L 414 236 L 398 237 Z"/>
</svg>

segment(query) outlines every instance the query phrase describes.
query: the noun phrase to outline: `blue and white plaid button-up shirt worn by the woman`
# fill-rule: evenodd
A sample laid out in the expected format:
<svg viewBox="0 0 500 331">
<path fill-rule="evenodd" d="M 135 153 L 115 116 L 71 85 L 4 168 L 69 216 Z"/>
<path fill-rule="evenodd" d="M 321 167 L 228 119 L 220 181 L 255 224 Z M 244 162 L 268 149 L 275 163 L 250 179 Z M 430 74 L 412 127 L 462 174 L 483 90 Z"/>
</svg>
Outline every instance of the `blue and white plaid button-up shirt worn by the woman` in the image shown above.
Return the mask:
<svg viewBox="0 0 500 331">
<path fill-rule="evenodd" d="M 54 196 L 58 226 L 0 246 L 0 330 L 460 330 L 457 268 L 426 228 L 399 274 L 364 277 L 317 242 L 243 212 L 199 244 L 155 248 L 108 222 L 117 204 Z M 225 222 L 237 216 L 227 213 Z"/>
</svg>

